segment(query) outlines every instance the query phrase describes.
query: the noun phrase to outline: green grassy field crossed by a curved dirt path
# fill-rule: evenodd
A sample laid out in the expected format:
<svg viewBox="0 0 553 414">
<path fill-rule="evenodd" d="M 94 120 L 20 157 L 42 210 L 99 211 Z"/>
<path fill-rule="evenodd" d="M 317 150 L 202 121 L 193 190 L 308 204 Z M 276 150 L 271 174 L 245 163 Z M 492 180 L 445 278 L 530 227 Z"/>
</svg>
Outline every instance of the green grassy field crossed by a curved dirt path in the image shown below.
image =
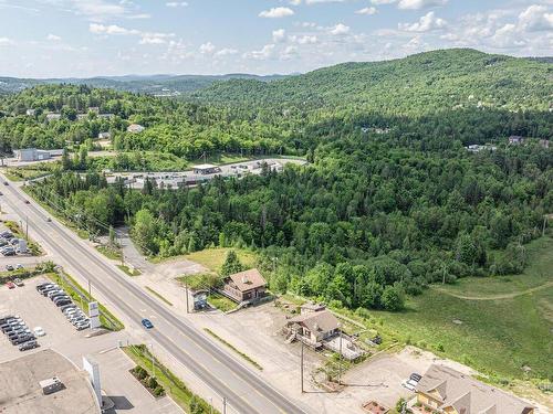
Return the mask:
<svg viewBox="0 0 553 414">
<path fill-rule="evenodd" d="M 522 368 L 529 367 L 530 376 L 553 379 L 553 240 L 531 243 L 528 253 L 530 266 L 522 275 L 434 286 L 409 299 L 406 311 L 377 316 L 413 343 L 435 351 L 441 344 L 444 352 L 437 353 L 482 372 L 523 378 Z M 518 296 L 486 299 L 513 294 Z"/>
</svg>

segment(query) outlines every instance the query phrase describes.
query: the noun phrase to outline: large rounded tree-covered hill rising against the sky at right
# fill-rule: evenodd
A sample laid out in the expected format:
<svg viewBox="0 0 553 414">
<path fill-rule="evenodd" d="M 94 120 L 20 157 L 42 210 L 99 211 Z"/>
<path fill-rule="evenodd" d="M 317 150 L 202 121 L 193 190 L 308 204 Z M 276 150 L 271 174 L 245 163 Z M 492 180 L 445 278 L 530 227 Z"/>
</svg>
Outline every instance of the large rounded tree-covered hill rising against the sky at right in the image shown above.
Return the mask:
<svg viewBox="0 0 553 414">
<path fill-rule="evenodd" d="M 553 64 L 469 49 L 344 63 L 261 83 L 233 79 L 197 92 L 200 99 L 247 106 L 359 106 L 392 114 L 488 107 L 549 110 Z"/>
</svg>

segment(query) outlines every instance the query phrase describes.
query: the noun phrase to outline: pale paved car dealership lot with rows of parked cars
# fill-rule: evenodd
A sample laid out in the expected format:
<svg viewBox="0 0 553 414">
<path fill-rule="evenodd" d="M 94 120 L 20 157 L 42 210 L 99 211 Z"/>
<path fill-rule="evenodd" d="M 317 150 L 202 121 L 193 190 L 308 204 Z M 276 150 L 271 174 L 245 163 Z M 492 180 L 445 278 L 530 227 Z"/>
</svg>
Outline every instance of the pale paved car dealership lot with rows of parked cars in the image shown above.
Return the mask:
<svg viewBox="0 0 553 414">
<path fill-rule="evenodd" d="M 4 262 L 0 258 L 0 266 Z M 76 331 L 65 319 L 62 312 L 46 297 L 40 295 L 35 286 L 46 282 L 45 278 L 34 277 L 24 280 L 23 287 L 8 289 L 0 286 L 0 316 L 19 315 L 32 330 L 42 327 L 46 335 L 38 338 L 40 348 L 27 352 L 38 352 L 41 349 L 52 348 L 82 367 L 83 355 L 92 355 L 100 362 L 102 389 L 106 395 L 113 396 L 116 403 L 112 413 L 150 414 L 150 413 L 181 413 L 182 411 L 168 397 L 154 399 L 131 375 L 128 370 L 134 363 L 117 349 L 118 341 L 126 343 L 126 332 L 112 332 L 98 337 L 87 338 L 90 330 Z M 8 338 L 0 332 L 0 362 L 19 358 L 23 352 L 12 346 Z"/>
</svg>

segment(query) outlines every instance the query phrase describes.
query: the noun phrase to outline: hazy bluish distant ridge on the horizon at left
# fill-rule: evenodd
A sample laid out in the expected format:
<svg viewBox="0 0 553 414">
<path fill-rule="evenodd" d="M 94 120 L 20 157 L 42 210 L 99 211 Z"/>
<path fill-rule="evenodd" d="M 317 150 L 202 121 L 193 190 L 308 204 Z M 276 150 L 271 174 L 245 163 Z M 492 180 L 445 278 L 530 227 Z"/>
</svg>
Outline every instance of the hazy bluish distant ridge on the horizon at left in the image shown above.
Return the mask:
<svg viewBox="0 0 553 414">
<path fill-rule="evenodd" d="M 179 95 L 201 89 L 218 81 L 257 79 L 260 82 L 268 82 L 283 77 L 286 77 L 286 75 L 276 74 L 260 76 L 241 73 L 226 75 L 123 75 L 95 76 L 88 78 L 65 77 L 45 79 L 0 77 L 0 94 L 17 93 L 35 85 L 74 84 L 150 95 Z"/>
</svg>

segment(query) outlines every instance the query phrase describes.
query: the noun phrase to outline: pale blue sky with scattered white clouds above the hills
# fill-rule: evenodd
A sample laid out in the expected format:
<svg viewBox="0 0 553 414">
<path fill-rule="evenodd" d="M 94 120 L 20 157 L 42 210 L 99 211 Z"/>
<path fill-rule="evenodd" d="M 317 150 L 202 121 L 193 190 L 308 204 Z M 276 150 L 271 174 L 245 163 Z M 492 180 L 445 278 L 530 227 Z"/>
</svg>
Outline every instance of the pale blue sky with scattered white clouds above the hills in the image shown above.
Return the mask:
<svg viewBox="0 0 553 414">
<path fill-rule="evenodd" d="M 442 47 L 553 55 L 553 0 L 0 0 L 0 76 L 292 73 Z"/>
</svg>

